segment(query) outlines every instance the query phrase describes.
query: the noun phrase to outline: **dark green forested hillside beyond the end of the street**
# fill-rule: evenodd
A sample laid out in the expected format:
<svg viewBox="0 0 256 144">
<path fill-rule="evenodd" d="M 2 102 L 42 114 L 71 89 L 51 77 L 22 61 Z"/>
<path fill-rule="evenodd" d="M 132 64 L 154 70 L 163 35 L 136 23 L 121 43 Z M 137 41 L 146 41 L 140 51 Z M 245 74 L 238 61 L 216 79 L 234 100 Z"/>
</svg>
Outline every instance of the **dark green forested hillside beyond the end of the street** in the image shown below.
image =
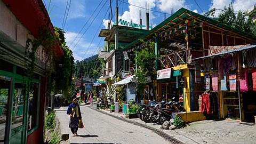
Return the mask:
<svg viewBox="0 0 256 144">
<path fill-rule="evenodd" d="M 99 78 L 104 62 L 97 55 L 86 58 L 75 63 L 75 77 L 81 78 L 82 74 L 86 77 Z"/>
</svg>

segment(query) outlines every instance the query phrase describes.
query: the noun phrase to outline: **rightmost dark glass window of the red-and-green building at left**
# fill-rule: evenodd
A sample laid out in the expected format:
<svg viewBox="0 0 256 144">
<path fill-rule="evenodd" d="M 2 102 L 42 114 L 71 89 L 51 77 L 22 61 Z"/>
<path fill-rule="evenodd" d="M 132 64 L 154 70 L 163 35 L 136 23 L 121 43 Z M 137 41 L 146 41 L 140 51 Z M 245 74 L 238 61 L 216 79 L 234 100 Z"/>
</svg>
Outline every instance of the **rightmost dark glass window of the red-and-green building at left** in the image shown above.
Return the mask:
<svg viewBox="0 0 256 144">
<path fill-rule="evenodd" d="M 31 83 L 29 90 L 29 105 L 28 105 L 28 130 L 34 129 L 38 125 L 38 96 L 39 84 Z"/>
</svg>

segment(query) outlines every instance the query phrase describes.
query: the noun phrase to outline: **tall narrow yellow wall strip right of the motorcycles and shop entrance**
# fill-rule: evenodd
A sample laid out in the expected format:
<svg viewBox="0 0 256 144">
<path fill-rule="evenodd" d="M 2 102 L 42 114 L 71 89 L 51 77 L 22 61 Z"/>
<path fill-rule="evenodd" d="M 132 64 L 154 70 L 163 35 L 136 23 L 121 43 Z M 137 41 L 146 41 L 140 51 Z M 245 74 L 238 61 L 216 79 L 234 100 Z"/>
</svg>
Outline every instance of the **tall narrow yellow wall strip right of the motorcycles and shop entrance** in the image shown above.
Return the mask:
<svg viewBox="0 0 256 144">
<path fill-rule="evenodd" d="M 189 87 L 189 69 L 183 69 L 183 77 L 186 77 L 187 87 L 183 88 L 183 97 L 185 103 L 185 109 L 190 111 L 190 87 Z"/>
</svg>

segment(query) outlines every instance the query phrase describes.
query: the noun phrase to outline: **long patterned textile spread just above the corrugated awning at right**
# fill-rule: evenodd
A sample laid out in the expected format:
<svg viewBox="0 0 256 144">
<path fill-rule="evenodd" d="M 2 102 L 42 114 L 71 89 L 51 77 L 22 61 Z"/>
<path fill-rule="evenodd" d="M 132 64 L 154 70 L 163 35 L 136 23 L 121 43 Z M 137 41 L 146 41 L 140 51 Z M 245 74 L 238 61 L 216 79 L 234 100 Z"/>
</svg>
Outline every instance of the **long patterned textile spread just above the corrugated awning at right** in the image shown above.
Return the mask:
<svg viewBox="0 0 256 144">
<path fill-rule="evenodd" d="M 209 46 L 208 55 L 213 55 L 221 52 L 227 52 L 232 50 L 241 49 L 245 46 L 249 46 L 250 44 L 246 45 L 234 45 L 234 46 Z"/>
</svg>

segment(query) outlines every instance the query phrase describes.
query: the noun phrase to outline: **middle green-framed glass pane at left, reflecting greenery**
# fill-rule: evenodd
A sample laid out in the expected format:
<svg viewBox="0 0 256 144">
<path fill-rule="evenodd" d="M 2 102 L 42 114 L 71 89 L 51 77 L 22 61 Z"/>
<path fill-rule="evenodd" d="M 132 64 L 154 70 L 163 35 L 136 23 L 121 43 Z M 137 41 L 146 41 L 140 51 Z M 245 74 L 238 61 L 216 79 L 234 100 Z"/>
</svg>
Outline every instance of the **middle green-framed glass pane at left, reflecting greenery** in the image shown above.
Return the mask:
<svg viewBox="0 0 256 144">
<path fill-rule="evenodd" d="M 15 83 L 13 91 L 12 129 L 23 124 L 26 84 Z"/>
</svg>

